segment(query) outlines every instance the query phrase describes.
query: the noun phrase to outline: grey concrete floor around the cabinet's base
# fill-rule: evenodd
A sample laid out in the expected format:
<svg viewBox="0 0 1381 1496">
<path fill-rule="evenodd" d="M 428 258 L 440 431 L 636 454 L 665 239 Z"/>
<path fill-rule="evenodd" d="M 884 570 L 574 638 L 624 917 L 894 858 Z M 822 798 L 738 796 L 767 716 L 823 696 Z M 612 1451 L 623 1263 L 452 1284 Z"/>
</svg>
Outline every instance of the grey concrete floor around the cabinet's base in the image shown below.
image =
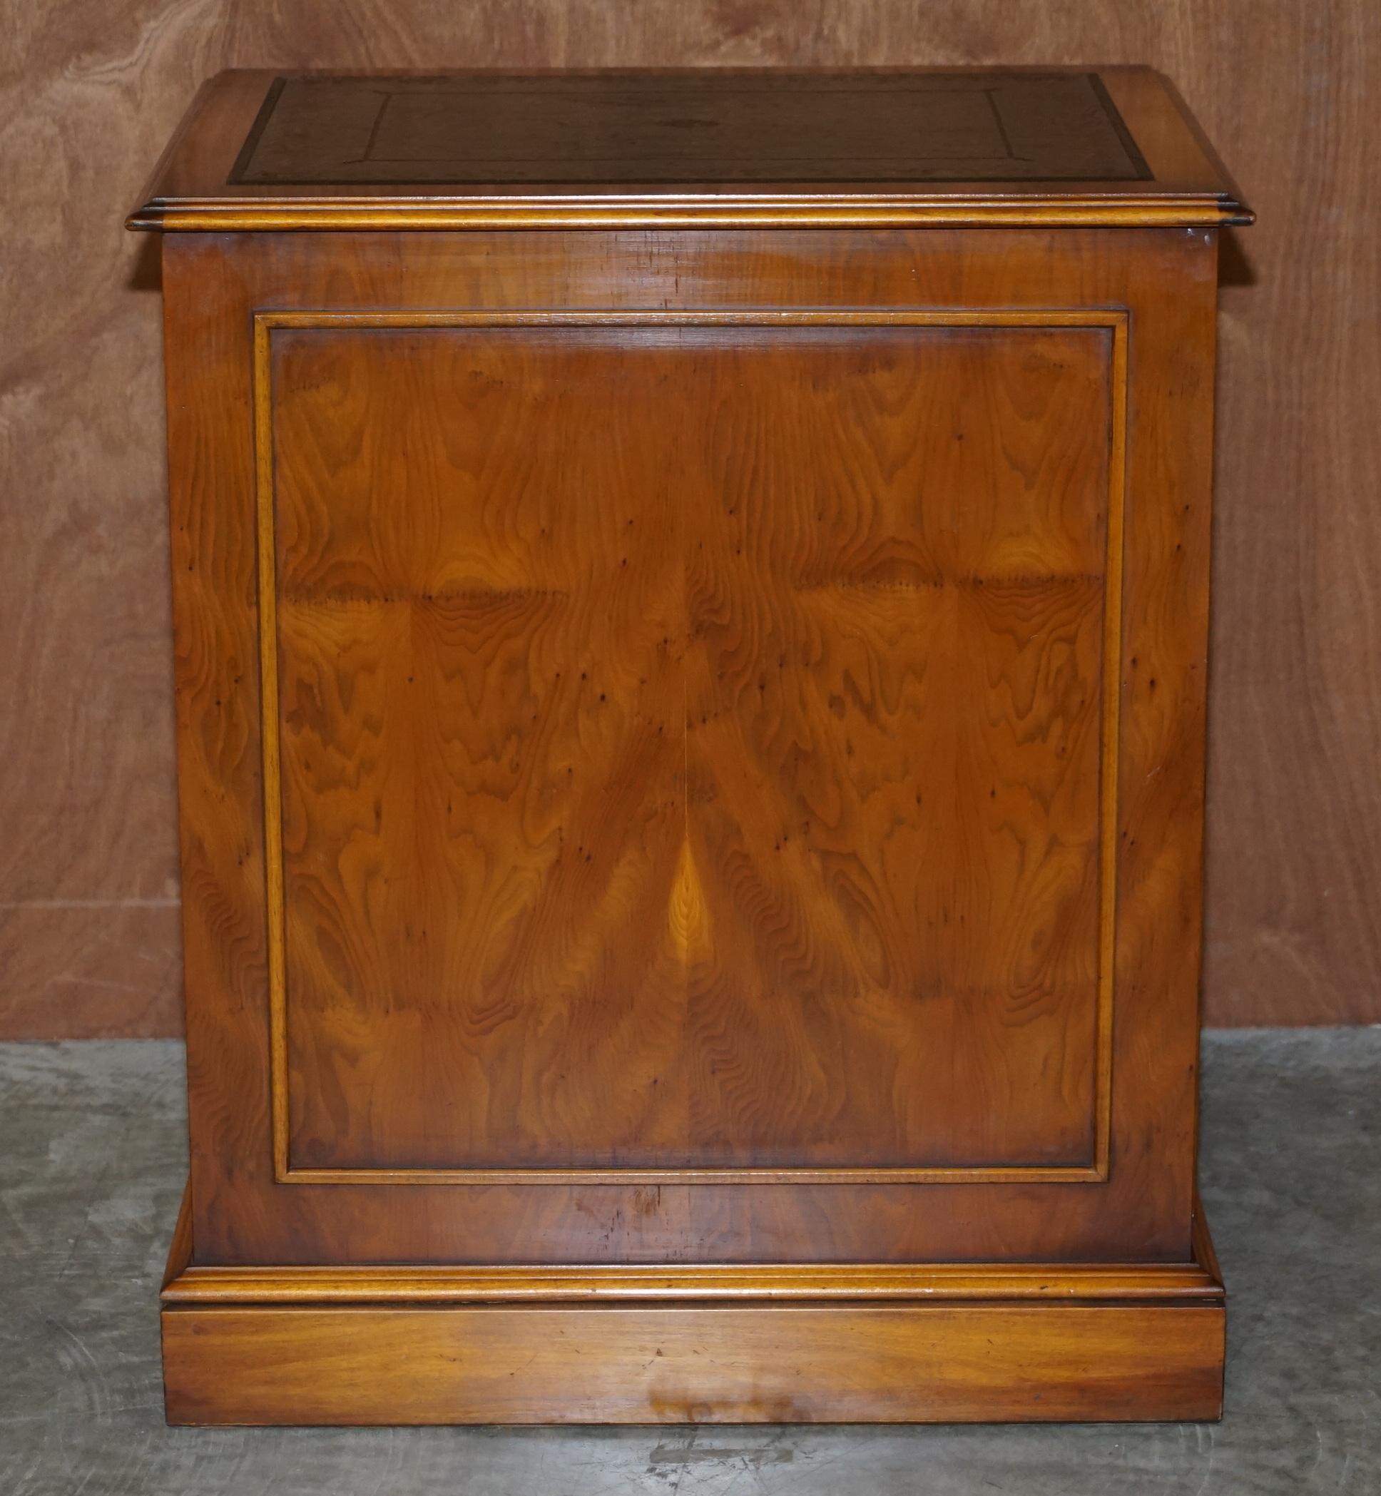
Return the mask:
<svg viewBox="0 0 1381 1496">
<path fill-rule="evenodd" d="M 168 1429 L 172 1043 L 0 1046 L 3 1496 L 1381 1493 L 1381 1028 L 1210 1034 L 1218 1426 Z"/>
</svg>

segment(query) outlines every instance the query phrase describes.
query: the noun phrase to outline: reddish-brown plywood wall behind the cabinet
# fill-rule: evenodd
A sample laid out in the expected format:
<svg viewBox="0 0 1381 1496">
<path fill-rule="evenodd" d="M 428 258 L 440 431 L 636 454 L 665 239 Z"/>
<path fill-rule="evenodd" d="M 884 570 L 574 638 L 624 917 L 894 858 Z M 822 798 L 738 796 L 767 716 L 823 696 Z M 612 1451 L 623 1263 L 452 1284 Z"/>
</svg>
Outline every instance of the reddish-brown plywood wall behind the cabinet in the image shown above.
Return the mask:
<svg viewBox="0 0 1381 1496">
<path fill-rule="evenodd" d="M 0 1035 L 178 1028 L 156 242 L 220 67 L 1146 61 L 1228 245 L 1206 1016 L 1381 1020 L 1377 0 L 10 0 L 0 37 Z"/>
</svg>

